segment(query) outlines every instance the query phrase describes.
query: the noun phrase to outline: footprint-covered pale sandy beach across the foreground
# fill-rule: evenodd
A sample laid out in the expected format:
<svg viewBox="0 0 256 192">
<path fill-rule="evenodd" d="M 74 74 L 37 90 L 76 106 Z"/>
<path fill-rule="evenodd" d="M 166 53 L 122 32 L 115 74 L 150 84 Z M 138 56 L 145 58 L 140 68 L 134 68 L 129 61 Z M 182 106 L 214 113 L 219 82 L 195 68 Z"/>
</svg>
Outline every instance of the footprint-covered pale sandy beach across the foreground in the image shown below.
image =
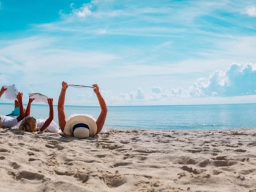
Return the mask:
<svg viewBox="0 0 256 192">
<path fill-rule="evenodd" d="M 1 128 L 0 190 L 256 192 L 256 129 L 110 129 L 80 140 Z"/>
</svg>

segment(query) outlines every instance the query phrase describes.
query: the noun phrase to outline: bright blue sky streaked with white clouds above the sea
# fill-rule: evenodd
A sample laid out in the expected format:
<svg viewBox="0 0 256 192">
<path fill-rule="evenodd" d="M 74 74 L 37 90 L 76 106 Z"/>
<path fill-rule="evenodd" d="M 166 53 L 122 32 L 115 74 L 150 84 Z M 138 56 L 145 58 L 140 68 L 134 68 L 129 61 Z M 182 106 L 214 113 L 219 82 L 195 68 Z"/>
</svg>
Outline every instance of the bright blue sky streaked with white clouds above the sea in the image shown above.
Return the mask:
<svg viewBox="0 0 256 192">
<path fill-rule="evenodd" d="M 65 80 L 109 105 L 255 102 L 255 49 L 255 0 L 0 0 L 1 84 L 25 99 Z"/>
</svg>

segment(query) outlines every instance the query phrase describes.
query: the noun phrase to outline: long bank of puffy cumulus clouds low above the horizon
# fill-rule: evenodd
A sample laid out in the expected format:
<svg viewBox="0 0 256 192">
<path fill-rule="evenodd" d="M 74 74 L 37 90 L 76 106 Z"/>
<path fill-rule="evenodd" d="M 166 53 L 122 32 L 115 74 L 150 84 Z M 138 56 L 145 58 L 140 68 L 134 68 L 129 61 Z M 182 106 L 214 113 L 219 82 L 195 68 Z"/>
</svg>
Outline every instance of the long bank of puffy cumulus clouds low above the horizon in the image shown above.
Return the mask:
<svg viewBox="0 0 256 192">
<path fill-rule="evenodd" d="M 256 95 L 256 64 L 232 64 L 226 71 L 215 71 L 208 78 L 198 78 L 188 89 L 152 87 L 121 93 L 118 102 L 171 101 L 202 97 L 239 97 Z M 110 98 L 110 97 L 109 97 Z"/>
</svg>

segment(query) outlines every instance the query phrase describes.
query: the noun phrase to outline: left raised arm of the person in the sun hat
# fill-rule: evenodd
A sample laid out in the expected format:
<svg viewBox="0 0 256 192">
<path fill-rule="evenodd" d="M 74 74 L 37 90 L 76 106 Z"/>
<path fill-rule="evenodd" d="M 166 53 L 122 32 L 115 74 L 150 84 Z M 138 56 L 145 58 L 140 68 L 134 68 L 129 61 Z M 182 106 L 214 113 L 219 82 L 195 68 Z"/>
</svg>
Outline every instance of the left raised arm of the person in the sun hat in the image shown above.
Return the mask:
<svg viewBox="0 0 256 192">
<path fill-rule="evenodd" d="M 62 131 L 64 131 L 66 125 L 66 114 L 65 114 L 65 96 L 68 85 L 65 81 L 62 82 L 62 89 L 58 98 L 58 123 Z"/>
</svg>

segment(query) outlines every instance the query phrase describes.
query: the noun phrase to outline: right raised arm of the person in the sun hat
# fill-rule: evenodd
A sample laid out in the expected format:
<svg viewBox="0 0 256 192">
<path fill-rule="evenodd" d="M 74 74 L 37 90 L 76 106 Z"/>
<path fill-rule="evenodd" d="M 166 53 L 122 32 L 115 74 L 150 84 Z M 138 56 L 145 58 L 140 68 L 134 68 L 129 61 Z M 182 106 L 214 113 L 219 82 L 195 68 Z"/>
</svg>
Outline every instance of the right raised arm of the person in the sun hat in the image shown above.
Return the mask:
<svg viewBox="0 0 256 192">
<path fill-rule="evenodd" d="M 105 120 L 106 120 L 106 115 L 107 115 L 107 106 L 106 106 L 105 100 L 103 99 L 103 97 L 101 96 L 101 94 L 99 92 L 98 85 L 93 84 L 93 86 L 95 87 L 94 92 L 97 95 L 98 102 L 99 102 L 99 105 L 100 105 L 100 108 L 101 108 L 100 115 L 98 116 L 98 119 L 97 119 L 97 122 L 96 122 L 98 129 L 97 129 L 97 133 L 95 135 L 97 135 L 98 133 L 100 133 L 100 131 L 102 130 L 102 128 L 104 126 L 104 123 L 105 123 Z"/>
</svg>

